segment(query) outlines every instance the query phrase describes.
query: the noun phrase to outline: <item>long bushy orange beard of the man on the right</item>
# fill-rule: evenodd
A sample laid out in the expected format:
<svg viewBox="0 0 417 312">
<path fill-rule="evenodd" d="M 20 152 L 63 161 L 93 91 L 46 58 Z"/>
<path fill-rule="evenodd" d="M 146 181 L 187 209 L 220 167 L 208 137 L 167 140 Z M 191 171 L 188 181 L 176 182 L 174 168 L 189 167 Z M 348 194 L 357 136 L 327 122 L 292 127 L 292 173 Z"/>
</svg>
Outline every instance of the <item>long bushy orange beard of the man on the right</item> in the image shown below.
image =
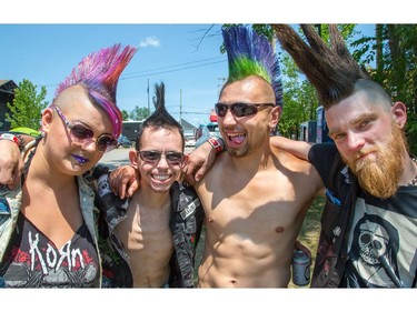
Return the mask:
<svg viewBox="0 0 417 312">
<path fill-rule="evenodd" d="M 351 171 L 358 178 L 359 185 L 369 194 L 387 199 L 394 195 L 398 189 L 399 179 L 403 174 L 403 153 L 407 149 L 407 141 L 401 129 L 393 121 L 391 133 L 386 147 L 383 149 L 365 148 L 357 154 L 357 159 L 348 163 Z M 376 160 L 361 155 L 375 152 Z"/>
</svg>

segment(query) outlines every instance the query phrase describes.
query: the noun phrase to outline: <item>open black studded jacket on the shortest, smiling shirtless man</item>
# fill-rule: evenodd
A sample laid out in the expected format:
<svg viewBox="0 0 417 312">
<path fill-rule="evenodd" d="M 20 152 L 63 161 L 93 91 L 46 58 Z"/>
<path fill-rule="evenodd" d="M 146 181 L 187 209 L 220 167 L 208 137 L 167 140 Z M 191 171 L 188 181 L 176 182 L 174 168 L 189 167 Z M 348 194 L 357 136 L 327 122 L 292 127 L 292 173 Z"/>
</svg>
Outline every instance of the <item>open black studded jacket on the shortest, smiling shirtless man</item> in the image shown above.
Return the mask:
<svg viewBox="0 0 417 312">
<path fill-rule="evenodd" d="M 98 177 L 97 173 L 96 177 Z M 110 192 L 108 174 L 100 177 L 98 189 L 102 238 L 100 246 L 101 251 L 106 253 L 103 255 L 103 280 L 107 279 L 107 284 L 105 281 L 103 286 L 131 288 L 133 280 L 129 256 L 123 251 L 115 232 L 116 225 L 126 219 L 129 200 L 120 200 Z M 172 233 L 173 252 L 169 262 L 168 284 L 169 288 L 193 288 L 196 248 L 205 213 L 200 200 L 191 187 L 175 182 L 170 189 L 170 197 L 169 227 Z"/>
</svg>

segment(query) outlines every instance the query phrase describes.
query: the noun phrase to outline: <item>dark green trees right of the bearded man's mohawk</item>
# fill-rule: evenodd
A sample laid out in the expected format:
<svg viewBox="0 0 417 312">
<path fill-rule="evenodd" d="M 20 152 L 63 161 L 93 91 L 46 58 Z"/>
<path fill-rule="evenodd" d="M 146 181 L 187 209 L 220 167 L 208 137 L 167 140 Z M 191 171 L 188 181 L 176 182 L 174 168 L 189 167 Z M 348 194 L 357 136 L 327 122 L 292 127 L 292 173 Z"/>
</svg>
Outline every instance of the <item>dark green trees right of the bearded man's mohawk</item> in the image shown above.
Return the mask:
<svg viewBox="0 0 417 312">
<path fill-rule="evenodd" d="M 393 101 L 407 105 L 406 135 L 417 154 L 417 24 L 376 24 L 374 37 L 353 43 L 354 57 Z M 375 63 L 375 69 L 370 66 Z"/>
</svg>

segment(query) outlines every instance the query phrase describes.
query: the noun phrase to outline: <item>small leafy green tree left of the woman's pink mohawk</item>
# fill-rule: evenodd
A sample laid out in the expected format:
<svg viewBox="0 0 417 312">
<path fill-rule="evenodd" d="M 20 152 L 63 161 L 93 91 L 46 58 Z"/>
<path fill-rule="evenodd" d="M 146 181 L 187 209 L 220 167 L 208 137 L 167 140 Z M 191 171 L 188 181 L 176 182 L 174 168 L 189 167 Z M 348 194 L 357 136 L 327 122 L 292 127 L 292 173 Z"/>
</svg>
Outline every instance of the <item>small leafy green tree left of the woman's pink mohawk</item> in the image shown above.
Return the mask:
<svg viewBox="0 0 417 312">
<path fill-rule="evenodd" d="M 38 94 L 37 85 L 29 80 L 23 79 L 19 82 L 19 87 L 14 89 L 13 103 L 7 103 L 11 113 L 6 113 L 6 118 L 10 120 L 11 128 L 28 127 L 39 130 L 41 112 L 48 105 L 48 101 L 44 101 L 46 95 L 44 85 Z"/>
</svg>

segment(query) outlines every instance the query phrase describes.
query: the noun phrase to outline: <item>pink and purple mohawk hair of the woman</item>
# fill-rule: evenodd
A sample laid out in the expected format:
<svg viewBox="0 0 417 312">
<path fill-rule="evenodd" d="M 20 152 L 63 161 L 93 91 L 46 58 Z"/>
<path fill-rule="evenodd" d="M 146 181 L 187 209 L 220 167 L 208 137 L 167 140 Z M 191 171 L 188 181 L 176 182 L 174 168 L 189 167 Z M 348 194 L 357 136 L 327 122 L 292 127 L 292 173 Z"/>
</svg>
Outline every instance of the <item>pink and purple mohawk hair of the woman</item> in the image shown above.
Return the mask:
<svg viewBox="0 0 417 312">
<path fill-rule="evenodd" d="M 109 115 L 115 138 L 121 133 L 122 115 L 116 104 L 117 83 L 138 49 L 121 44 L 105 48 L 83 58 L 57 88 L 54 99 L 67 88 L 80 84 Z"/>
</svg>

